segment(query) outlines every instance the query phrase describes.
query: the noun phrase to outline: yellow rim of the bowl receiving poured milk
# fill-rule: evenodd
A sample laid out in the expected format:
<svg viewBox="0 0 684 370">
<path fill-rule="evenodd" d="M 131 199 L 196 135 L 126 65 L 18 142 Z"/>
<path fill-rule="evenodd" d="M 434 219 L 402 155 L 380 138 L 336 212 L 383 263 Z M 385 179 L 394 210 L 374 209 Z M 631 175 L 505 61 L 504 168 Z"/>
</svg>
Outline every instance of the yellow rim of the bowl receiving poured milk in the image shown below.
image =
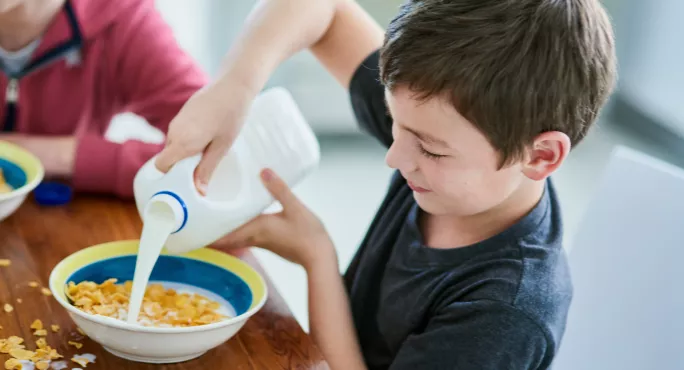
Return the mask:
<svg viewBox="0 0 684 370">
<path fill-rule="evenodd" d="M 56 286 L 57 282 L 57 273 L 64 266 L 69 259 L 75 259 L 78 258 L 78 255 L 80 253 L 84 253 L 84 251 L 90 250 L 92 248 L 103 248 L 105 246 L 110 246 L 113 244 L 128 244 L 128 243 L 137 243 L 138 240 L 136 239 L 129 239 L 129 240 L 120 240 L 120 241 L 113 241 L 113 242 L 107 242 L 107 243 L 101 243 L 101 244 L 96 244 L 89 246 L 87 248 L 81 249 L 75 253 L 70 254 L 63 260 L 61 260 L 50 272 L 50 278 L 49 278 L 49 285 L 50 285 L 50 291 L 52 292 L 53 297 L 57 300 L 57 302 L 64 307 L 70 314 L 79 316 L 80 318 L 94 322 L 100 325 L 104 326 L 109 326 L 109 327 L 115 327 L 120 330 L 126 330 L 126 331 L 131 331 L 131 332 L 136 332 L 136 333 L 157 333 L 157 334 L 180 334 L 180 333 L 197 333 L 197 332 L 203 332 L 203 331 L 210 331 L 214 329 L 219 329 L 223 328 L 226 326 L 231 326 L 236 323 L 240 323 L 243 321 L 246 321 L 248 318 L 253 316 L 255 313 L 259 312 L 261 308 L 266 304 L 266 300 L 268 299 L 268 286 L 266 285 L 266 281 L 264 280 L 263 276 L 256 271 L 252 266 L 250 266 L 248 263 L 240 260 L 237 257 L 231 256 L 228 253 L 216 250 L 216 249 L 211 249 L 212 251 L 221 253 L 222 255 L 228 257 L 229 259 L 233 259 L 235 262 L 242 264 L 246 266 L 249 270 L 252 270 L 252 272 L 255 273 L 258 282 L 261 284 L 261 286 L 264 289 L 264 294 L 261 297 L 261 300 L 257 302 L 257 304 L 252 305 L 247 311 L 242 313 L 241 315 L 231 317 L 229 319 L 221 320 L 219 322 L 211 323 L 211 324 L 206 324 L 206 325 L 199 325 L 199 326 L 189 326 L 189 327 L 155 327 L 155 326 L 142 326 L 142 325 L 132 325 L 129 324 L 125 321 L 121 321 L 118 319 L 114 319 L 111 317 L 106 317 L 106 316 L 97 316 L 97 315 L 92 315 L 86 312 L 83 312 L 79 310 L 78 308 L 74 307 L 73 305 L 69 304 L 64 298 L 62 298 L 60 291 L 58 287 Z M 124 254 L 122 254 L 123 256 Z M 127 255 L 127 254 L 125 254 Z M 190 258 L 190 257 L 185 257 L 184 255 L 176 255 L 177 257 L 181 258 Z M 101 260 L 97 260 L 101 261 Z M 97 261 L 91 261 L 88 264 L 97 262 Z M 211 263 L 208 261 L 202 261 L 206 263 Z M 221 267 L 221 266 L 219 266 Z M 250 289 L 251 290 L 251 289 Z M 254 292 L 252 292 L 253 294 Z"/>
</svg>

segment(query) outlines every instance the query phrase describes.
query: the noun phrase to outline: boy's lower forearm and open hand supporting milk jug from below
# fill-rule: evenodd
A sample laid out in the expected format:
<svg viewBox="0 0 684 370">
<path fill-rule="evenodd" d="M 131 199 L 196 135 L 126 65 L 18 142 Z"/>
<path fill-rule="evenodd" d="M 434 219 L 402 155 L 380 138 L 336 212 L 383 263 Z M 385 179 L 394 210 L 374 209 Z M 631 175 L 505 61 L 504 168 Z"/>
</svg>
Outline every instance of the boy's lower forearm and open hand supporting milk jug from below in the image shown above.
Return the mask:
<svg viewBox="0 0 684 370">
<path fill-rule="evenodd" d="M 271 170 L 261 172 L 266 189 L 283 207 L 231 232 L 225 248 L 258 246 L 304 267 L 309 284 L 309 323 L 314 342 L 332 369 L 365 369 L 337 253 L 325 227 Z"/>
</svg>

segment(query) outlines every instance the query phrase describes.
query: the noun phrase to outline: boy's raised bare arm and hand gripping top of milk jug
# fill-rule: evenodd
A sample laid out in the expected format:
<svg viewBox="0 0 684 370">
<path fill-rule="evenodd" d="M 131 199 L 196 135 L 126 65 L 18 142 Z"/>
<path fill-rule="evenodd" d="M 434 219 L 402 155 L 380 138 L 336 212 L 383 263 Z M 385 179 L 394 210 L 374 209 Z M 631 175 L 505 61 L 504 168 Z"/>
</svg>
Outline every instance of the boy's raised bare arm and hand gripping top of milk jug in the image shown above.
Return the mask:
<svg viewBox="0 0 684 370">
<path fill-rule="evenodd" d="M 353 0 L 264 0 L 257 4 L 225 57 L 222 73 L 195 94 L 171 122 L 157 167 L 203 153 L 197 183 L 214 168 L 239 133 L 251 101 L 277 66 L 310 48 L 348 86 L 361 61 L 382 45 L 382 28 Z"/>
</svg>

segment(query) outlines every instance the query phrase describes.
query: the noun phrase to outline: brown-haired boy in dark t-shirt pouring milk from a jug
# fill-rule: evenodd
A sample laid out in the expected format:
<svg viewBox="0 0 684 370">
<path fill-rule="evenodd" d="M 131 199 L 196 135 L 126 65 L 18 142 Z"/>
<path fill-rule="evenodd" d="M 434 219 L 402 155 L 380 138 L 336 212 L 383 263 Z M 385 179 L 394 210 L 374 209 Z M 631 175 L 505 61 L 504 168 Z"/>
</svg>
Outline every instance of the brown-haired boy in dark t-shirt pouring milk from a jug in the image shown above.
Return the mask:
<svg viewBox="0 0 684 370">
<path fill-rule="evenodd" d="M 547 179 L 615 79 L 598 1 L 411 0 L 384 42 L 352 1 L 262 1 L 222 78 L 172 121 L 158 166 L 205 151 L 204 189 L 248 102 L 305 47 L 397 172 L 344 281 L 323 226 L 268 169 L 283 211 L 225 242 L 304 267 L 333 369 L 548 368 L 572 287 Z"/>
</svg>

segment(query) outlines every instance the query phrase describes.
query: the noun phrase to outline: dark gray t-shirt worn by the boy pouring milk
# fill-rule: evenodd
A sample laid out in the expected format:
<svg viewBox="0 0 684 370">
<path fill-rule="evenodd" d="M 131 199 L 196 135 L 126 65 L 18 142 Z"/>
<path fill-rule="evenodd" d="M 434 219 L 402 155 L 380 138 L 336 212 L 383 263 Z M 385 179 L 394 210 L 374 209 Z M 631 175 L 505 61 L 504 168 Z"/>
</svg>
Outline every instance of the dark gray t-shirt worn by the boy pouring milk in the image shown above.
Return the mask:
<svg viewBox="0 0 684 370">
<path fill-rule="evenodd" d="M 362 128 L 391 145 L 378 52 L 356 70 L 350 95 Z M 552 183 L 518 223 L 467 247 L 424 245 L 420 212 L 396 173 L 345 274 L 368 367 L 548 368 L 572 297 Z"/>
</svg>

